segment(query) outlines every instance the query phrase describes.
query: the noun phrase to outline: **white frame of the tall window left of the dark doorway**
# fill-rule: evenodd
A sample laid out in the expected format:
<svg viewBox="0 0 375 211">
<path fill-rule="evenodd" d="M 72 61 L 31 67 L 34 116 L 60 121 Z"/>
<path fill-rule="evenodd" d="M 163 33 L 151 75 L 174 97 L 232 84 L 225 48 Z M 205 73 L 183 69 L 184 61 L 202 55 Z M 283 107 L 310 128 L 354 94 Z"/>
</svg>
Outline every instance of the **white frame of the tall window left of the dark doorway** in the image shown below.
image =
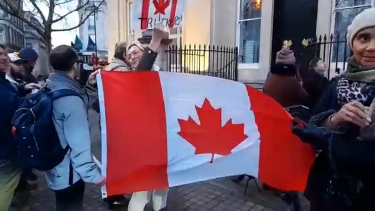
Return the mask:
<svg viewBox="0 0 375 211">
<path fill-rule="evenodd" d="M 261 17 L 260 18 L 248 18 L 248 19 L 240 19 L 241 16 L 241 1 L 242 0 L 237 0 L 237 26 L 236 26 L 236 46 L 238 47 L 239 50 L 239 55 L 240 55 L 240 36 L 241 36 L 241 26 L 240 24 L 244 21 L 252 21 L 252 20 L 262 20 L 263 12 L 261 12 Z M 261 6 L 260 10 L 263 9 L 263 6 Z M 260 39 L 260 42 L 261 39 Z M 239 60 L 241 58 L 239 57 Z M 259 69 L 259 62 L 257 63 L 240 63 L 239 62 L 239 69 Z"/>
</svg>

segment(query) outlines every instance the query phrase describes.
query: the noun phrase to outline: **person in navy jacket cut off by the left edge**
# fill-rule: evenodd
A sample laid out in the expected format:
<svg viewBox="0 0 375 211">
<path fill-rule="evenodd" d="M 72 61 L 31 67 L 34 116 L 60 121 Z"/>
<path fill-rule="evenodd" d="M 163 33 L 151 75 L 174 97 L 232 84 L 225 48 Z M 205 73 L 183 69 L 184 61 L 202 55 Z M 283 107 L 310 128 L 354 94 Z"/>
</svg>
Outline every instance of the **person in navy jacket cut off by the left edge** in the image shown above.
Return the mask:
<svg viewBox="0 0 375 211">
<path fill-rule="evenodd" d="M 24 94 L 37 87 L 37 84 L 16 84 L 9 80 L 12 75 L 6 51 L 6 46 L 0 44 L 0 211 L 9 210 L 21 176 L 11 132 L 13 114 L 23 103 Z"/>
</svg>

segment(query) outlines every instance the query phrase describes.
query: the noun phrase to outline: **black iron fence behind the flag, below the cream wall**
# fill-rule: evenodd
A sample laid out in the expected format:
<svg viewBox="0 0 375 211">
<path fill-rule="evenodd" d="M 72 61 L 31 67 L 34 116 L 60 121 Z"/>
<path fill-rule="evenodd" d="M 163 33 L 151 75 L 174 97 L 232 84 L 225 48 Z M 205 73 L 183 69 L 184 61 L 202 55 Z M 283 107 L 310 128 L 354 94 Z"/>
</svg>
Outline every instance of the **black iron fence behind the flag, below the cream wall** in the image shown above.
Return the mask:
<svg viewBox="0 0 375 211">
<path fill-rule="evenodd" d="M 169 46 L 169 72 L 238 80 L 238 48 L 215 45 Z"/>
</svg>

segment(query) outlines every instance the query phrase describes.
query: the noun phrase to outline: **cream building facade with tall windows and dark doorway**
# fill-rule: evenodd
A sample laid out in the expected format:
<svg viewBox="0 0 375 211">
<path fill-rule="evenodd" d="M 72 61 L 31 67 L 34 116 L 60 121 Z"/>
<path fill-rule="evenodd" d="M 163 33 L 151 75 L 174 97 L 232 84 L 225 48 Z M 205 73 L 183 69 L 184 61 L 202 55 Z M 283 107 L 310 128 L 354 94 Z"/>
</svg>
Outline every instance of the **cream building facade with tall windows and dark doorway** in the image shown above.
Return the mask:
<svg viewBox="0 0 375 211">
<path fill-rule="evenodd" d="M 107 16 L 110 55 L 113 54 L 116 42 L 133 41 L 141 36 L 140 30 L 134 31 L 131 26 L 133 1 L 108 2 L 108 10 L 111 11 Z M 297 59 L 300 59 L 305 51 L 303 39 L 320 35 L 329 37 L 331 33 L 345 39 L 346 29 L 351 20 L 363 9 L 374 7 L 375 4 L 375 0 L 186 2 L 183 26 L 171 30 L 174 43 L 239 47 L 239 80 L 247 83 L 265 80 L 276 52 L 282 48 L 284 40 L 293 42 L 292 49 Z M 342 58 L 344 54 L 350 55 L 350 50 L 343 53 L 346 47 L 342 42 L 335 48 L 337 53 L 343 54 Z M 330 53 L 324 55 L 328 56 Z M 332 71 L 334 72 L 330 72 Z"/>
</svg>

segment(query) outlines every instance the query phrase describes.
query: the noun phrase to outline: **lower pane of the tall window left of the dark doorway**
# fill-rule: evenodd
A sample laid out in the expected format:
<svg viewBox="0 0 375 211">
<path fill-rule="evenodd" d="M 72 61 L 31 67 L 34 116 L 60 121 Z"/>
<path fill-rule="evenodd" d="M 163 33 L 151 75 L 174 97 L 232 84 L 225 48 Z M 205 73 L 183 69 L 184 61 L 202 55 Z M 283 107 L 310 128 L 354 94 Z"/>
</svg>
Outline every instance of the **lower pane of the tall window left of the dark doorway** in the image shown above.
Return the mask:
<svg viewBox="0 0 375 211">
<path fill-rule="evenodd" d="M 261 20 L 240 22 L 240 54 L 242 63 L 259 62 Z"/>
</svg>

